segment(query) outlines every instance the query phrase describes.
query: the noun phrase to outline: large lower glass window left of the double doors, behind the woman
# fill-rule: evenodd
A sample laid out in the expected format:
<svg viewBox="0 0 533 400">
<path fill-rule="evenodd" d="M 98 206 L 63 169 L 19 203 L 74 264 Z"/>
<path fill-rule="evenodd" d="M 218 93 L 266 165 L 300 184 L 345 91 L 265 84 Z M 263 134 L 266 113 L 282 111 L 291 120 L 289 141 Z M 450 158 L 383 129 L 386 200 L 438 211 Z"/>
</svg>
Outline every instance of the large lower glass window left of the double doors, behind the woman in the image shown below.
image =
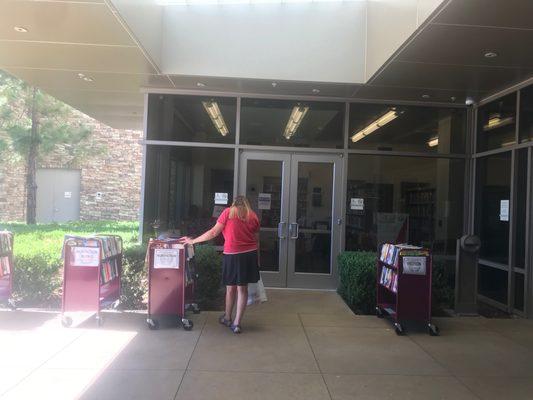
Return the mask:
<svg viewBox="0 0 533 400">
<path fill-rule="evenodd" d="M 211 228 L 225 205 L 215 193 L 233 199 L 234 151 L 194 147 L 148 146 L 144 228 L 147 235 L 174 231 L 199 235 Z M 222 236 L 214 244 L 222 244 Z"/>
</svg>

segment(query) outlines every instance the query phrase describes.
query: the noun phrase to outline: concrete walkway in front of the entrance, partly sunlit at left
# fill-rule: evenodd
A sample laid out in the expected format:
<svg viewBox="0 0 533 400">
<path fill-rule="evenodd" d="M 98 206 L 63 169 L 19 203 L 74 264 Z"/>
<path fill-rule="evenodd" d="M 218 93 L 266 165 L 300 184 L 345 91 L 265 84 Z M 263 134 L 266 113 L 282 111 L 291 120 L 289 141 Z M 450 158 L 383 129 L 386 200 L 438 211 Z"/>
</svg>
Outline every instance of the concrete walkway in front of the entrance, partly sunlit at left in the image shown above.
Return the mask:
<svg viewBox="0 0 533 400">
<path fill-rule="evenodd" d="M 333 292 L 269 291 L 233 335 L 217 313 L 191 332 L 140 313 L 62 328 L 57 313 L 0 311 L 5 399 L 532 399 L 533 322 L 437 319 L 398 337 Z"/>
</svg>

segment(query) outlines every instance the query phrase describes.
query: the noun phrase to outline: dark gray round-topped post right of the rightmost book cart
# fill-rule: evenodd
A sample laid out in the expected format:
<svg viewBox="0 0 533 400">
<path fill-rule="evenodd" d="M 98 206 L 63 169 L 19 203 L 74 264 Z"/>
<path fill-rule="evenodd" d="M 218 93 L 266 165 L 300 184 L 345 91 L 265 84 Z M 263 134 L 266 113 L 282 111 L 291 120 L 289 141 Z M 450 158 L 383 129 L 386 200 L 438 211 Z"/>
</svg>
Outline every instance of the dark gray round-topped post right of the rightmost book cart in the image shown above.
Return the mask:
<svg viewBox="0 0 533 400">
<path fill-rule="evenodd" d="M 477 314 L 477 263 L 481 241 L 475 235 L 457 240 L 455 264 L 455 312 Z"/>
</svg>

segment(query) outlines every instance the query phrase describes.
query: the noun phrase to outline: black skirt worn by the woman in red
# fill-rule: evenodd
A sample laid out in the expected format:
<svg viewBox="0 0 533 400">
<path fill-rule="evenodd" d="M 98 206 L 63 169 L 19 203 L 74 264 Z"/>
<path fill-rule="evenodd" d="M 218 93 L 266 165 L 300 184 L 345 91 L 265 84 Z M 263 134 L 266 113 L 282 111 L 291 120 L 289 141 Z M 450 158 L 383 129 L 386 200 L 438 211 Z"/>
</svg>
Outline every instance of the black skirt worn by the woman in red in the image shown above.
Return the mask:
<svg viewBox="0 0 533 400">
<path fill-rule="evenodd" d="M 245 286 L 259 280 L 257 250 L 238 254 L 224 254 L 222 261 L 222 284 Z"/>
</svg>

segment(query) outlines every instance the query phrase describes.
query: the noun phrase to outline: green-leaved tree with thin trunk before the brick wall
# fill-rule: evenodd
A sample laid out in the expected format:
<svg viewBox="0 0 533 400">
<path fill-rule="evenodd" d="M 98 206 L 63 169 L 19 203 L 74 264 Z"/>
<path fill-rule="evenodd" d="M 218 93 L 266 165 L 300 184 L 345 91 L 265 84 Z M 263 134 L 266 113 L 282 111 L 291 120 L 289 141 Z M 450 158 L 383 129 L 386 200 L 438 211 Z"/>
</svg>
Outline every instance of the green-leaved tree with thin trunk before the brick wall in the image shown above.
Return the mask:
<svg viewBox="0 0 533 400">
<path fill-rule="evenodd" d="M 59 148 L 79 162 L 88 153 L 90 135 L 74 109 L 0 71 L 0 153 L 25 162 L 26 223 L 35 224 L 38 162 Z"/>
</svg>

